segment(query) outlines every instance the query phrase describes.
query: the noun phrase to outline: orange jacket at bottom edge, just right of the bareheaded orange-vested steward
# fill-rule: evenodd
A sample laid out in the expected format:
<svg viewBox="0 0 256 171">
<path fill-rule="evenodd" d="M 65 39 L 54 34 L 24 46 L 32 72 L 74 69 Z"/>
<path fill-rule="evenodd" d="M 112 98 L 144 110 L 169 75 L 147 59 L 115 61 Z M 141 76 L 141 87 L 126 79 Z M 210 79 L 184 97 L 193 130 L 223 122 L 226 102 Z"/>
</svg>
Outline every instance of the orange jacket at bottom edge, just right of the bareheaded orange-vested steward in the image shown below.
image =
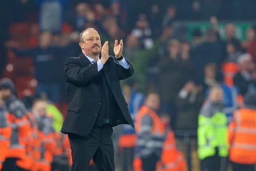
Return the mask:
<svg viewBox="0 0 256 171">
<path fill-rule="evenodd" d="M 163 143 L 160 161 L 156 171 L 186 171 L 186 161 L 175 145 L 175 136 L 169 131 Z"/>
</svg>

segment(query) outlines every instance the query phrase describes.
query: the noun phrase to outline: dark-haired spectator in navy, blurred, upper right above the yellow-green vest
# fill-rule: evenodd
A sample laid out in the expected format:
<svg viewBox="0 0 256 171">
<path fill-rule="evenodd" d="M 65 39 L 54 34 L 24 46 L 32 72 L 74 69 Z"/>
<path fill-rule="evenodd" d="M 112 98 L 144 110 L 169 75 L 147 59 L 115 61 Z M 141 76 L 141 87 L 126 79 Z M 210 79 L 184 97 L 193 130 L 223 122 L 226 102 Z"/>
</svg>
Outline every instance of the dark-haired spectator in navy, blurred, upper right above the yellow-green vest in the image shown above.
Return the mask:
<svg viewBox="0 0 256 171">
<path fill-rule="evenodd" d="M 195 71 L 198 83 L 204 80 L 204 67 L 208 63 L 215 63 L 216 66 L 220 66 L 222 62 L 221 45 L 217 41 L 216 32 L 212 29 L 208 29 L 204 37 L 205 42 L 192 51 L 193 63 L 197 66 Z"/>
</svg>

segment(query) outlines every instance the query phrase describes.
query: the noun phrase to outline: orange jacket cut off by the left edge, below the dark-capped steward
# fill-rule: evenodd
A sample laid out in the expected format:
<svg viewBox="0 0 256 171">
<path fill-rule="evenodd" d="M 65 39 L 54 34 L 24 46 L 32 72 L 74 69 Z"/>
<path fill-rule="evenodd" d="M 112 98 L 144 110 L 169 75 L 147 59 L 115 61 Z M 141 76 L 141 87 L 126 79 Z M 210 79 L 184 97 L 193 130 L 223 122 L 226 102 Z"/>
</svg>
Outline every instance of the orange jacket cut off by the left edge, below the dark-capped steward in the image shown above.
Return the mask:
<svg viewBox="0 0 256 171">
<path fill-rule="evenodd" d="M 0 170 L 3 167 L 3 162 L 6 159 L 12 128 L 10 127 L 10 114 L 0 107 Z"/>
</svg>

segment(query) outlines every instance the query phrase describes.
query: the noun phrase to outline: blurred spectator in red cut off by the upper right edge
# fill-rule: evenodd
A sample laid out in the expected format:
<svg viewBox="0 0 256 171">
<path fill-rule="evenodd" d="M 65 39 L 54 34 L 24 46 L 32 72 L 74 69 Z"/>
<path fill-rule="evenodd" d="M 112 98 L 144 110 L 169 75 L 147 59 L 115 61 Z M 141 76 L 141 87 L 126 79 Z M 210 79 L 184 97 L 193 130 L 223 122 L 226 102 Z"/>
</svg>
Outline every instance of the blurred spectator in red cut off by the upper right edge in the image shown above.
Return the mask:
<svg viewBox="0 0 256 171">
<path fill-rule="evenodd" d="M 253 57 L 253 62 L 256 63 L 256 31 L 254 28 L 249 28 L 246 31 L 246 41 L 243 43 L 247 53 Z"/>
</svg>

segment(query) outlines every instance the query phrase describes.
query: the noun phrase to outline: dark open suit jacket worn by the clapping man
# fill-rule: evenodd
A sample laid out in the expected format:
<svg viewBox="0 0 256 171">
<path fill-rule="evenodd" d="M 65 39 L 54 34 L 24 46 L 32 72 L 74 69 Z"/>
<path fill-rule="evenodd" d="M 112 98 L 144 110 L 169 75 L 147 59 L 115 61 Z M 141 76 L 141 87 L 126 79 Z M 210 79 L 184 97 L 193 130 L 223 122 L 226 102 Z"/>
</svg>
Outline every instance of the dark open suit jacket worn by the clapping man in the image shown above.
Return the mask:
<svg viewBox="0 0 256 171">
<path fill-rule="evenodd" d="M 125 60 L 130 66 L 128 69 L 123 68 L 116 58 L 110 56 L 102 71 L 119 106 L 119 110 L 111 118 L 112 126 L 129 124 L 134 128 L 119 81 L 131 77 L 134 73 L 131 63 Z M 96 122 L 102 101 L 100 90 L 94 81 L 94 78 L 99 77 L 97 63 L 91 64 L 84 54 L 70 57 L 65 62 L 65 77 L 69 104 L 61 132 L 86 136 Z"/>
</svg>

